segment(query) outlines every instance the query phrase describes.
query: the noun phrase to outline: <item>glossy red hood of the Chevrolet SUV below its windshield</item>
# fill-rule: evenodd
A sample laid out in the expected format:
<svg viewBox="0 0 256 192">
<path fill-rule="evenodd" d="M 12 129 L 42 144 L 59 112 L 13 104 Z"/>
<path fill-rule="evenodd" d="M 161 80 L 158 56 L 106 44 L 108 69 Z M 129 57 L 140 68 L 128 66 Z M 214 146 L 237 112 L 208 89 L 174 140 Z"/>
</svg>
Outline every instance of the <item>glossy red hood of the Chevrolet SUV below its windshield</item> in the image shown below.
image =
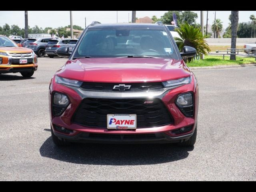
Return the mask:
<svg viewBox="0 0 256 192">
<path fill-rule="evenodd" d="M 84 82 L 161 82 L 191 75 L 183 60 L 164 58 L 80 58 L 56 75 Z"/>
</svg>

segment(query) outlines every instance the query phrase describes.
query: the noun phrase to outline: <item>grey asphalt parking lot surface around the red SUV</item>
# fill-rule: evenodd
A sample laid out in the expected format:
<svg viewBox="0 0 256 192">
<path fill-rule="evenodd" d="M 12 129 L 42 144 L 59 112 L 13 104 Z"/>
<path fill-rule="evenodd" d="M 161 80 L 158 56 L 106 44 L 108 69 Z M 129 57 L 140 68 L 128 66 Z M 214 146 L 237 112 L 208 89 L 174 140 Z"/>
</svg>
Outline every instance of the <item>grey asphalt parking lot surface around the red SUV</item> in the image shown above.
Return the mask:
<svg viewBox="0 0 256 192">
<path fill-rule="evenodd" d="M 256 180 L 256 67 L 194 70 L 198 136 L 172 144 L 52 142 L 48 88 L 66 58 L 38 58 L 32 78 L 0 75 L 0 180 Z"/>
</svg>

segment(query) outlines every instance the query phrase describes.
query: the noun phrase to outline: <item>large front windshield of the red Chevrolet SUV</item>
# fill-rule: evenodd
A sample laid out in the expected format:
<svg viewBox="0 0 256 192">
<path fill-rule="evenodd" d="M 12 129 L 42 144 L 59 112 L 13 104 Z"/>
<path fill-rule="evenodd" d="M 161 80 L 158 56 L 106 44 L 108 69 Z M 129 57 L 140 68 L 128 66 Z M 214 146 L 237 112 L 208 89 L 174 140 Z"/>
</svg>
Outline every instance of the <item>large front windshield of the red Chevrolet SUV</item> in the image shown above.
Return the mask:
<svg viewBox="0 0 256 192">
<path fill-rule="evenodd" d="M 150 56 L 178 59 L 164 29 L 88 29 L 73 58 Z"/>
</svg>

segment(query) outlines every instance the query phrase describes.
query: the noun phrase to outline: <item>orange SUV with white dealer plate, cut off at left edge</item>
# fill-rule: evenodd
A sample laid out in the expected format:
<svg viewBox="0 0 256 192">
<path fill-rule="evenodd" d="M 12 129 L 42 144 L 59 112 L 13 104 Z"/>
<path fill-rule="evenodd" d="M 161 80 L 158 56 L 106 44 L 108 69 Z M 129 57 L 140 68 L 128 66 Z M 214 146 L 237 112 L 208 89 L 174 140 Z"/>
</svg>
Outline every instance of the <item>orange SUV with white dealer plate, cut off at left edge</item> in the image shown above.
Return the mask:
<svg viewBox="0 0 256 192">
<path fill-rule="evenodd" d="M 31 77 L 37 67 L 37 56 L 31 49 L 19 47 L 0 35 L 0 74 L 20 72 L 24 77 Z"/>
</svg>

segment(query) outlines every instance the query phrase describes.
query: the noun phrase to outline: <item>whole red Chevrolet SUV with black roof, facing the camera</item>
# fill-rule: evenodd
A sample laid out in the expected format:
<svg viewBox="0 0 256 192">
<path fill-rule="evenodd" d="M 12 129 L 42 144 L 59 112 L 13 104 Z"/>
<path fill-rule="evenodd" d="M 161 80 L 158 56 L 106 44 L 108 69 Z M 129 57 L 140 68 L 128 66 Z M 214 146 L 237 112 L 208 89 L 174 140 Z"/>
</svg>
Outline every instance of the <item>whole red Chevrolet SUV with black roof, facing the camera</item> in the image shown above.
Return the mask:
<svg viewBox="0 0 256 192">
<path fill-rule="evenodd" d="M 70 142 L 196 142 L 198 83 L 170 30 L 156 24 L 92 22 L 52 77 L 49 107 L 56 145 Z"/>
</svg>

